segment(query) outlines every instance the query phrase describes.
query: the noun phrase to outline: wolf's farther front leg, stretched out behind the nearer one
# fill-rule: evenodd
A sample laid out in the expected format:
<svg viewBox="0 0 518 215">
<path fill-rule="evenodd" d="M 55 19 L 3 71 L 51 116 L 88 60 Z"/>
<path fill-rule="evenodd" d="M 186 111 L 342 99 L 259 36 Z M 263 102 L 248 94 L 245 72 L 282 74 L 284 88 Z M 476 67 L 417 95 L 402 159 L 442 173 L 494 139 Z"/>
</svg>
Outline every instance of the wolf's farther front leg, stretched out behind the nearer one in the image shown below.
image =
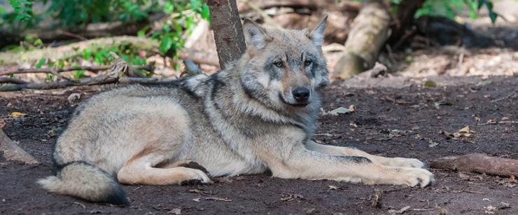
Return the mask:
<svg viewBox="0 0 518 215">
<path fill-rule="evenodd" d="M 365 151 L 358 150 L 356 148 L 341 147 L 341 146 L 330 146 L 317 144 L 314 141 L 307 141 L 305 144 L 306 148 L 311 151 L 318 151 L 328 155 L 346 155 L 346 156 L 360 156 L 369 158 L 372 162 L 380 165 L 386 165 L 391 167 L 418 167 L 423 168 L 426 165 L 414 158 L 385 158 L 377 155 L 371 155 Z"/>
</svg>

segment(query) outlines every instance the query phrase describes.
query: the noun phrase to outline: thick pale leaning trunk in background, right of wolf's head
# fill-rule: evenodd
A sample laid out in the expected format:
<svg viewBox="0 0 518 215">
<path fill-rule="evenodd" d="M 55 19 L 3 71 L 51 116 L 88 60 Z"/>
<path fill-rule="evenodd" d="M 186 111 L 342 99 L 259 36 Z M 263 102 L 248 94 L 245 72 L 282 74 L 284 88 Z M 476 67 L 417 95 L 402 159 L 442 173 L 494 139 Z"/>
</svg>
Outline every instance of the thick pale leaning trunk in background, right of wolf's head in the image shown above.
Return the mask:
<svg viewBox="0 0 518 215">
<path fill-rule="evenodd" d="M 354 19 L 344 55 L 335 66 L 334 78 L 351 78 L 374 66 L 388 38 L 389 22 L 390 15 L 381 1 L 367 1 Z"/>
</svg>

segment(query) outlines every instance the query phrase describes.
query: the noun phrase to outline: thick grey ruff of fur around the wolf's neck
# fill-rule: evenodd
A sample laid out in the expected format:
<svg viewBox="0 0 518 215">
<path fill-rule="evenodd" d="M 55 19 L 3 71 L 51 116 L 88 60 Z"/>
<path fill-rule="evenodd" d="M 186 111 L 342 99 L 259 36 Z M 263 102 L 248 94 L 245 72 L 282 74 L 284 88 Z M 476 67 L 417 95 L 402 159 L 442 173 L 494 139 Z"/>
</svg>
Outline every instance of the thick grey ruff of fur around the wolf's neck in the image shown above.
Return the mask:
<svg viewBox="0 0 518 215">
<path fill-rule="evenodd" d="M 244 58 L 244 57 L 243 57 Z M 228 64 L 223 71 L 210 76 L 204 86 L 205 108 L 213 109 L 220 113 L 228 125 L 240 125 L 248 118 L 248 123 L 280 123 L 300 127 L 310 138 L 314 133 L 314 125 L 321 102 L 316 99 L 304 107 L 284 106 L 282 108 L 272 107 L 265 102 L 255 98 L 241 84 L 241 71 L 244 68 L 245 59 L 233 64 Z"/>
</svg>

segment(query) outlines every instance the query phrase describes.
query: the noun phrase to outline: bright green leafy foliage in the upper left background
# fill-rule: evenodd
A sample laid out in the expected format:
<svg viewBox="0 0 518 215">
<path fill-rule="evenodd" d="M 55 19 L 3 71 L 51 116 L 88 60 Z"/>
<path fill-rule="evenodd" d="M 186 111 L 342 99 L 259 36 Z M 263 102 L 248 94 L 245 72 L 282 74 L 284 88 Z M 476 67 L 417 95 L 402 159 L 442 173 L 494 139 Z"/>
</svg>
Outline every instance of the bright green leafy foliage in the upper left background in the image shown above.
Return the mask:
<svg viewBox="0 0 518 215">
<path fill-rule="evenodd" d="M 153 14 L 165 13 L 169 18 L 160 29 L 148 25 L 137 32 L 137 36 L 150 36 L 160 41 L 160 54 L 169 55 L 174 59 L 183 47 L 186 35 L 195 27 L 195 20 L 202 18 L 210 20 L 209 6 L 202 0 L 9 0 L 14 10 L 12 13 L 0 15 L 0 27 L 8 26 L 20 31 L 24 27 L 32 27 L 41 20 L 52 20 L 53 25 L 71 32 L 84 29 L 87 24 L 95 22 L 144 22 Z M 41 14 L 34 14 L 33 4 L 43 4 L 48 9 Z M 29 23 L 30 22 L 30 23 Z M 25 23 L 21 25 L 20 23 Z M 29 25 L 30 24 L 30 25 Z M 34 36 L 27 36 L 22 46 L 9 49 L 31 50 L 41 47 L 43 41 Z M 146 56 L 140 56 L 130 44 L 117 47 L 92 46 L 80 50 L 83 60 L 93 60 L 97 64 L 111 64 L 116 53 L 130 64 L 146 64 Z M 71 59 L 69 59 L 70 61 Z M 45 60 L 45 62 L 47 62 Z M 58 67 L 59 62 L 48 62 L 51 67 Z M 40 67 L 43 64 L 38 64 Z M 83 74 L 77 74 L 82 76 Z M 74 75 L 76 76 L 76 75 Z"/>
</svg>

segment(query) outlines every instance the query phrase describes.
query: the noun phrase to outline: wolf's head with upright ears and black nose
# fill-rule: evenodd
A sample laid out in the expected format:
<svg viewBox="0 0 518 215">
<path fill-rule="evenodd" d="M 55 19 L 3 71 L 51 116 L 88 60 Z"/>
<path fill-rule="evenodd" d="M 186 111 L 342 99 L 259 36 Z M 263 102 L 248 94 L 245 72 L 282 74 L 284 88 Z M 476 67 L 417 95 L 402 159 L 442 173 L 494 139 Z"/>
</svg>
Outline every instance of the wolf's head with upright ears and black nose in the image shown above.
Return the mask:
<svg viewBox="0 0 518 215">
<path fill-rule="evenodd" d="M 329 82 L 321 49 L 325 20 L 312 30 L 265 29 L 245 20 L 240 78 L 247 94 L 272 109 L 319 106 L 319 88 Z"/>
</svg>

